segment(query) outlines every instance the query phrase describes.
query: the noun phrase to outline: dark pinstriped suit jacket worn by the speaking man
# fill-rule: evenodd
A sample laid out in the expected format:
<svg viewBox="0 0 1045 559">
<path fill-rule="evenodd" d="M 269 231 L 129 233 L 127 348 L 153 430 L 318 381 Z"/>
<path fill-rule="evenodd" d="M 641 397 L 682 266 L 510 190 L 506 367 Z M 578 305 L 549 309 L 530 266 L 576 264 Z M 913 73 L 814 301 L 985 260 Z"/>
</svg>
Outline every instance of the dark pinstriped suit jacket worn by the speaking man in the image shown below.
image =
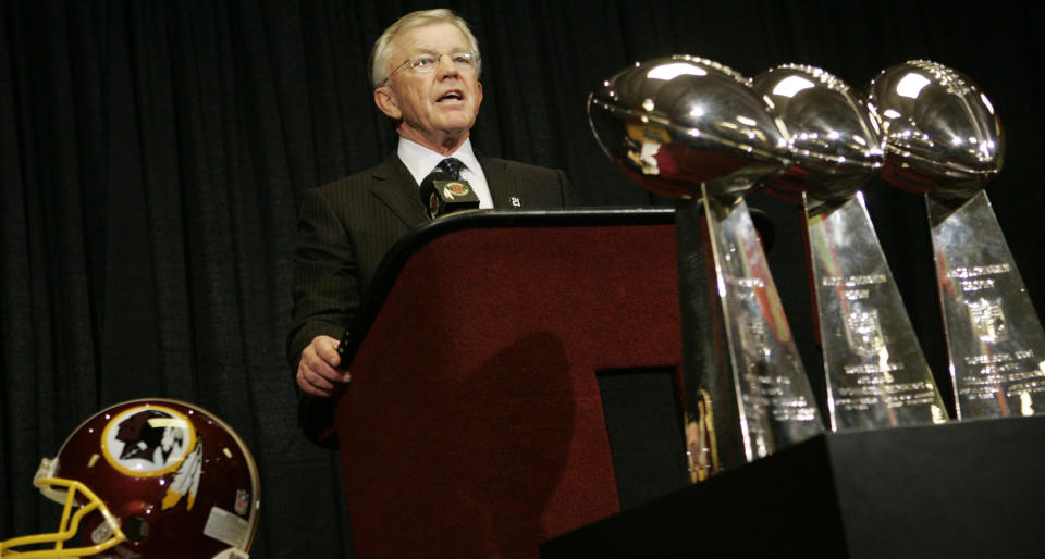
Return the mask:
<svg viewBox="0 0 1045 559">
<path fill-rule="evenodd" d="M 495 208 L 566 204 L 569 183 L 562 171 L 477 158 Z M 395 154 L 376 167 L 305 192 L 294 251 L 294 321 L 287 339 L 292 371 L 314 337 L 341 337 L 384 254 L 426 221 L 417 183 Z"/>
</svg>

